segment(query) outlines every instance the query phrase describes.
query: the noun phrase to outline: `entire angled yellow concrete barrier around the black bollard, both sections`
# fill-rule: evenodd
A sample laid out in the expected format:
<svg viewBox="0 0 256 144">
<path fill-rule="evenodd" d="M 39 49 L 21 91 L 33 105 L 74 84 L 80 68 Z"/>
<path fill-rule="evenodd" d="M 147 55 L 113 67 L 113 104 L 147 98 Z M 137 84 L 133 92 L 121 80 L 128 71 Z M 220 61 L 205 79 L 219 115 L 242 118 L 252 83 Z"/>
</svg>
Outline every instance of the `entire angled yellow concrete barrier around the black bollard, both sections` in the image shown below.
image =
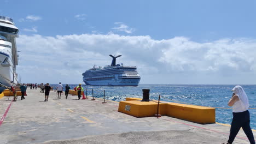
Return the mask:
<svg viewBox="0 0 256 144">
<path fill-rule="evenodd" d="M 157 113 L 158 101 L 140 101 L 139 98 L 126 100 L 128 101 L 120 101 L 119 112 L 135 117 L 150 117 Z M 202 124 L 215 123 L 215 109 L 212 107 L 160 101 L 159 114 Z"/>
</svg>

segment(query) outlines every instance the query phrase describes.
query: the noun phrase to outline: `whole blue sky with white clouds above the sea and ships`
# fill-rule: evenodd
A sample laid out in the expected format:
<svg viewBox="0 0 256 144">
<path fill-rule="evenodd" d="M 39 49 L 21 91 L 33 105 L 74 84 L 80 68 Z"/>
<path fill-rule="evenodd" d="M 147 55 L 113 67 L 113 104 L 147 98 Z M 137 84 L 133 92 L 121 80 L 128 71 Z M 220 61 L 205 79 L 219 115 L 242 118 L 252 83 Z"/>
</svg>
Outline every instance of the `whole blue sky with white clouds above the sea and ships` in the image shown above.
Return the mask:
<svg viewBox="0 0 256 144">
<path fill-rule="evenodd" d="M 13 18 L 20 29 L 23 82 L 80 83 L 86 69 L 121 54 L 118 61 L 137 65 L 141 83 L 254 84 L 255 6 L 255 1 L 5 0 L 0 15 Z"/>
</svg>

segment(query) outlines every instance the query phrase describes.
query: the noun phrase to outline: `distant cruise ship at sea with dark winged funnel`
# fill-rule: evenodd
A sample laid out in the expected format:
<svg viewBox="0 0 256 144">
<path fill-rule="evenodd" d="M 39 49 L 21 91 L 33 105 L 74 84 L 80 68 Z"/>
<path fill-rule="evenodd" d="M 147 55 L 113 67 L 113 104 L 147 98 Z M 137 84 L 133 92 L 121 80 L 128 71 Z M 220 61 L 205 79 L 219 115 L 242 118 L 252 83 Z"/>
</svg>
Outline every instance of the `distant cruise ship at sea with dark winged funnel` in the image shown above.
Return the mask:
<svg viewBox="0 0 256 144">
<path fill-rule="evenodd" d="M 112 57 L 111 65 L 104 68 L 96 67 L 86 70 L 83 73 L 83 81 L 86 85 L 92 86 L 138 86 L 141 77 L 135 66 L 123 66 L 115 64 L 116 58 L 121 55 Z"/>
</svg>

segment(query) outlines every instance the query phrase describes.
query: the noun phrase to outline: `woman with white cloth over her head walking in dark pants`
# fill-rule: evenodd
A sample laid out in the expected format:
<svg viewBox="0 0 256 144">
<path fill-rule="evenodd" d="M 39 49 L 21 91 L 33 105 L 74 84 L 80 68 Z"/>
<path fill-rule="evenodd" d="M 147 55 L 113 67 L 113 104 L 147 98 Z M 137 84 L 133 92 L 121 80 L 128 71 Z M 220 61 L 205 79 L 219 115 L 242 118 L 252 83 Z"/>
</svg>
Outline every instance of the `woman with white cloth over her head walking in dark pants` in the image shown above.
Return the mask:
<svg viewBox="0 0 256 144">
<path fill-rule="evenodd" d="M 250 143 L 255 144 L 252 129 L 250 127 L 248 97 L 241 86 L 235 86 L 231 91 L 233 91 L 233 95 L 229 100 L 228 105 L 232 106 L 233 119 L 231 123 L 228 144 L 231 144 L 234 141 L 241 127 L 243 128 L 243 131 L 245 131 L 245 134 L 248 137 Z"/>
</svg>

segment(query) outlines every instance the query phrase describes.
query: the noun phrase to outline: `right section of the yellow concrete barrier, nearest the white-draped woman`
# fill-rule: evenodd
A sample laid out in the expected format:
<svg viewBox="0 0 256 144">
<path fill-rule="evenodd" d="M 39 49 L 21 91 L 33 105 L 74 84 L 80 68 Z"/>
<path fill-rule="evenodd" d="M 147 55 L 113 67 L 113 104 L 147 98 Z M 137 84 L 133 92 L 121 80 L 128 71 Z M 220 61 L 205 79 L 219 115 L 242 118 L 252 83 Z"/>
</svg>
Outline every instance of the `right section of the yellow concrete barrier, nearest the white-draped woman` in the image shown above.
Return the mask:
<svg viewBox="0 0 256 144">
<path fill-rule="evenodd" d="M 215 109 L 206 106 L 167 104 L 167 116 L 184 119 L 196 123 L 215 123 Z"/>
</svg>

